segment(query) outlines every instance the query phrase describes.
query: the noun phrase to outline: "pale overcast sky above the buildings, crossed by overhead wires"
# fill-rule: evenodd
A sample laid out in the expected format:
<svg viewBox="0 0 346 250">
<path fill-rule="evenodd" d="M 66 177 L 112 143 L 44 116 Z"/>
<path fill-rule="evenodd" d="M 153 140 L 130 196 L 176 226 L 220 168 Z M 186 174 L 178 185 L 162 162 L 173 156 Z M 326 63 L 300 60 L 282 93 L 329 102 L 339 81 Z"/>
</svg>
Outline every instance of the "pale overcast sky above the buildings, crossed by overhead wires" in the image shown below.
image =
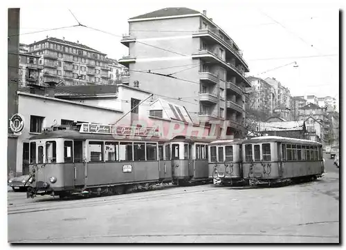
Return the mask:
<svg viewBox="0 0 346 250">
<path fill-rule="evenodd" d="M 15 3 L 21 8 L 21 34 L 78 24 L 69 9 L 83 25 L 113 34 L 77 27 L 21 35 L 21 43 L 30 44 L 47 35 L 65 37 L 114 59 L 128 54 L 120 39 L 128 33 L 130 17 L 168 7 L 207 10 L 207 16 L 243 50 L 250 75 L 275 77 L 292 95 L 338 98 L 338 1 L 49 1 L 49 6 L 47 1 Z M 293 61 L 298 68 L 293 64 L 284 66 Z"/>
</svg>

